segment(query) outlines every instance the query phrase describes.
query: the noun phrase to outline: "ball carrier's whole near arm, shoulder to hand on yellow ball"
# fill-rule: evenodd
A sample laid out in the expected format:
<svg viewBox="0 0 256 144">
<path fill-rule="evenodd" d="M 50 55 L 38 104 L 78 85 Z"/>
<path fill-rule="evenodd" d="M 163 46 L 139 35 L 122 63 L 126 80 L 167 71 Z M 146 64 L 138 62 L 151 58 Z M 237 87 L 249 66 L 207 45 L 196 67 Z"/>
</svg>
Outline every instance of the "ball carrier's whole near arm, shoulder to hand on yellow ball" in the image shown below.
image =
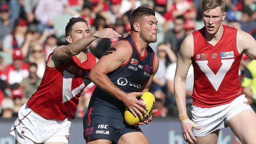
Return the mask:
<svg viewBox="0 0 256 144">
<path fill-rule="evenodd" d="M 137 114 L 142 115 L 141 112 L 146 112 L 145 109 L 143 109 L 143 107 L 146 107 L 146 104 L 136 99 L 136 96 L 143 94 L 143 92 L 126 93 L 116 87 L 107 76 L 109 72 L 113 72 L 122 64 L 126 63 L 131 55 L 132 48 L 128 42 L 116 42 L 100 58 L 98 63 L 96 63 L 89 74 L 89 79 L 110 96 L 121 100 L 134 116 L 136 116 Z"/>
</svg>

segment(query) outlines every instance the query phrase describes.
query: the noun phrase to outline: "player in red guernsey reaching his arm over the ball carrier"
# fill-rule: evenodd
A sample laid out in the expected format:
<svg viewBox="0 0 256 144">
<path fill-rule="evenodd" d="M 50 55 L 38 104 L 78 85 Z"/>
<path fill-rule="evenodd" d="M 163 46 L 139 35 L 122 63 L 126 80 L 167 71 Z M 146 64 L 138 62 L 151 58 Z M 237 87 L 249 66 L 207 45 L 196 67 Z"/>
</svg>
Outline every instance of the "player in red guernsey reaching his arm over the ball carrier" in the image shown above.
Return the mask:
<svg viewBox="0 0 256 144">
<path fill-rule="evenodd" d="M 70 18 L 65 28 L 69 45 L 49 55 L 37 91 L 19 111 L 11 128 L 16 144 L 68 144 L 70 119 L 75 118 L 79 97 L 91 83 L 88 76 L 96 57 L 87 51 L 95 39 L 121 37 L 106 28 L 90 35 L 87 20 Z"/>
</svg>

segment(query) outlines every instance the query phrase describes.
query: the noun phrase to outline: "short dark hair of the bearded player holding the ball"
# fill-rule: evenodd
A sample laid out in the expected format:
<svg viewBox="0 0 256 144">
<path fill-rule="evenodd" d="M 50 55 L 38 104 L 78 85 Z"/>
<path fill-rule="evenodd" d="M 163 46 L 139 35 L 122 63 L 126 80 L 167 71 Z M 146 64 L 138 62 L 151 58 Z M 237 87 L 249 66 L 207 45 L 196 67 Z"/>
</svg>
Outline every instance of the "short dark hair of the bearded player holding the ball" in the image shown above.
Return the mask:
<svg viewBox="0 0 256 144">
<path fill-rule="evenodd" d="M 134 11 L 132 11 L 132 14 L 130 17 L 131 30 L 134 30 L 134 28 L 133 28 L 134 23 L 138 22 L 143 17 L 150 16 L 150 15 L 155 16 L 155 11 L 148 7 L 140 6 L 137 9 L 134 9 Z"/>
</svg>

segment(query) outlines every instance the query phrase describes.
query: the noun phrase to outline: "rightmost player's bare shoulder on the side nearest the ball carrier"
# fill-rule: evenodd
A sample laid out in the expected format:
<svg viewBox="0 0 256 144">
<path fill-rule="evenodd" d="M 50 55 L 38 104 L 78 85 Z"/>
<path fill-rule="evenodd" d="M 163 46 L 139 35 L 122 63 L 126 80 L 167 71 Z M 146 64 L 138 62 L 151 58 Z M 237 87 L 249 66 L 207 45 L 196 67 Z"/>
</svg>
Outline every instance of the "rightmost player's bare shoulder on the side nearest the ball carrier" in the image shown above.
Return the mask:
<svg viewBox="0 0 256 144">
<path fill-rule="evenodd" d="M 185 57 L 193 57 L 194 53 L 194 40 L 193 35 L 188 35 L 180 46 L 180 55 Z"/>
</svg>

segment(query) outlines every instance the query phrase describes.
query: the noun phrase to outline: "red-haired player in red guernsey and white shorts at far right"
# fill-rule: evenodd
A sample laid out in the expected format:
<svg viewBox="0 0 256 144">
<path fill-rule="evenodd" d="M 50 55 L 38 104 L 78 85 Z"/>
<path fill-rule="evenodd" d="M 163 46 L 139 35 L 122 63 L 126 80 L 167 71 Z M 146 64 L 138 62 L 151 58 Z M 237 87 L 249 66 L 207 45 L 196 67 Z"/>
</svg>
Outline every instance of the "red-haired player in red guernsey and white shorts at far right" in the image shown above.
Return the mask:
<svg viewBox="0 0 256 144">
<path fill-rule="evenodd" d="M 222 24 L 225 0 L 203 0 L 202 17 L 204 27 L 182 42 L 174 78 L 184 140 L 216 144 L 220 129 L 229 126 L 243 144 L 255 144 L 256 114 L 243 94 L 238 72 L 243 53 L 256 59 L 256 41 L 248 33 Z M 185 83 L 191 63 L 194 88 L 190 120 Z"/>
</svg>

